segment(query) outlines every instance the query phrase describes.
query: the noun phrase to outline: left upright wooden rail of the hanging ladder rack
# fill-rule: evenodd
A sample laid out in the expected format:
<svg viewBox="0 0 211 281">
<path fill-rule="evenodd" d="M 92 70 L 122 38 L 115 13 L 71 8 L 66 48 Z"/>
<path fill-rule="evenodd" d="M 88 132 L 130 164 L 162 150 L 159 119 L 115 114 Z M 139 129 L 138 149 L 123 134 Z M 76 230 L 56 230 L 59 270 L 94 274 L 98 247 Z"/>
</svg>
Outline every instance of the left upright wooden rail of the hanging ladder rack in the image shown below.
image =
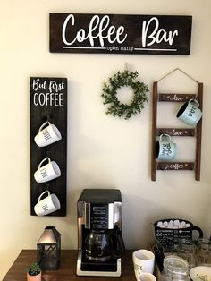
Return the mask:
<svg viewBox="0 0 211 281">
<path fill-rule="evenodd" d="M 152 109 L 152 149 L 151 149 L 151 180 L 156 181 L 156 113 L 157 113 L 157 82 L 153 83 Z"/>
</svg>

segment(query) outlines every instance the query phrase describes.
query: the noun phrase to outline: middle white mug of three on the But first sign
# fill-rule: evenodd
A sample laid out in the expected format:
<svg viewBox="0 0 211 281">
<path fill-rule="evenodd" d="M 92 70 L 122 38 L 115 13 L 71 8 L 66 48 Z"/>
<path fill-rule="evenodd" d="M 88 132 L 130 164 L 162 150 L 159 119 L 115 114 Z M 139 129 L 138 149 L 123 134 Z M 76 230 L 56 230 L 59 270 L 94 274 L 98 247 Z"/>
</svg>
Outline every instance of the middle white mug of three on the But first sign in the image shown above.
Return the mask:
<svg viewBox="0 0 211 281">
<path fill-rule="evenodd" d="M 44 162 L 48 161 L 45 166 L 42 166 Z M 37 183 L 46 183 L 54 180 L 61 175 L 61 171 L 55 161 L 51 161 L 50 158 L 43 159 L 39 165 L 38 170 L 34 174 L 34 178 Z"/>
</svg>

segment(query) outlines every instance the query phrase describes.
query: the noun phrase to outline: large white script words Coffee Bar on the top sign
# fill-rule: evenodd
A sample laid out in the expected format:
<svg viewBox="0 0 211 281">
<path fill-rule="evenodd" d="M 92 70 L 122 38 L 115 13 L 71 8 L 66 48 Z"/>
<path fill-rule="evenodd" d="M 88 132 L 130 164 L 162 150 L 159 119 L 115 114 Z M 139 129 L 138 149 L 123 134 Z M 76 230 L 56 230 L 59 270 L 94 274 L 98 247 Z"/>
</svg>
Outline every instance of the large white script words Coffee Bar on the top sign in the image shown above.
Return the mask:
<svg viewBox="0 0 211 281">
<path fill-rule="evenodd" d="M 114 25 L 110 25 L 110 18 L 105 15 L 101 20 L 98 15 L 94 15 L 89 22 L 89 31 L 80 29 L 76 34 L 72 35 L 72 41 L 68 41 L 66 37 L 67 28 L 75 25 L 75 18 L 73 14 L 69 14 L 63 22 L 62 38 L 66 47 L 71 47 L 75 42 L 82 43 L 89 39 L 91 47 L 95 46 L 95 39 L 99 40 L 100 46 L 105 46 L 105 39 L 108 43 L 122 44 L 127 38 L 127 33 L 124 33 L 125 27 L 119 26 L 116 28 Z M 141 25 L 140 25 L 141 26 Z M 142 46 L 150 47 L 154 44 L 160 44 L 163 41 L 168 43 L 169 46 L 173 45 L 174 37 L 179 35 L 178 30 L 166 31 L 160 29 L 160 23 L 156 17 L 152 17 L 149 21 L 143 21 L 142 25 Z M 152 30 L 153 28 L 153 30 Z M 150 30 L 150 31 L 149 31 Z"/>
</svg>

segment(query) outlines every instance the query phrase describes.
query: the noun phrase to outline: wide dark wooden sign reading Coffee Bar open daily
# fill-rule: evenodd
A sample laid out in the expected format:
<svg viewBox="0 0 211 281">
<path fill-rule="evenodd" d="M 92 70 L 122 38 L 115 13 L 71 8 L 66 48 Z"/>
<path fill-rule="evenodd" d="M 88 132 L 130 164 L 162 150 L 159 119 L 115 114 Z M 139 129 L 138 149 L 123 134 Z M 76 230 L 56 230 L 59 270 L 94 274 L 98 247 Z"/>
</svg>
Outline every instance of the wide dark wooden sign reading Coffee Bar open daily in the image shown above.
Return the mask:
<svg viewBox="0 0 211 281">
<path fill-rule="evenodd" d="M 50 13 L 50 52 L 190 55 L 192 16 Z"/>
</svg>

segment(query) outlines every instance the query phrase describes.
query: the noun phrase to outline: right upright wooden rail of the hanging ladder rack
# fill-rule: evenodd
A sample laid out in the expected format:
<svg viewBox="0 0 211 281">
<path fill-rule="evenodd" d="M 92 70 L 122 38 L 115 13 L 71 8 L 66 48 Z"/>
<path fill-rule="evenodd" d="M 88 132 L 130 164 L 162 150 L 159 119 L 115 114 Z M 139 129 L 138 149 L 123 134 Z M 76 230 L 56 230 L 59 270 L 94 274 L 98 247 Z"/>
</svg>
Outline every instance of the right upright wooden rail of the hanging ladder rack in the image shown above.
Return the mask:
<svg viewBox="0 0 211 281">
<path fill-rule="evenodd" d="M 198 102 L 199 108 L 202 111 L 203 107 L 203 83 L 198 83 Z M 197 124 L 197 146 L 196 146 L 196 168 L 195 179 L 200 180 L 200 165 L 201 165 L 201 132 L 202 132 L 202 118 Z"/>
</svg>

